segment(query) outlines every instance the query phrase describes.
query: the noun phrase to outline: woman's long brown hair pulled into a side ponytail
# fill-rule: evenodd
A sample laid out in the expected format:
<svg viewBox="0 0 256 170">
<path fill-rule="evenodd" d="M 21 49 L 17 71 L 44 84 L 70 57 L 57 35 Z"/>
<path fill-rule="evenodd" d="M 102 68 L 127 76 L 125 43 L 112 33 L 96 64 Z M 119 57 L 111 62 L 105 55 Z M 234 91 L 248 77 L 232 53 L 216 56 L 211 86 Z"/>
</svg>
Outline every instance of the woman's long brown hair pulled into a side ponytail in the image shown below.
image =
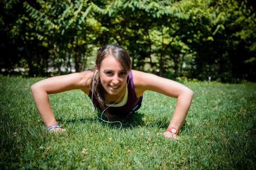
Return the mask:
<svg viewBox="0 0 256 170">
<path fill-rule="evenodd" d="M 122 67 L 125 70 L 126 74 L 129 74 L 129 71 L 131 70 L 131 58 L 128 54 L 128 52 L 125 50 L 125 48 L 123 48 L 120 45 L 115 45 L 115 44 L 108 44 L 108 45 L 104 45 L 98 52 L 97 57 L 96 57 L 96 66 L 97 69 L 100 69 L 100 65 L 102 63 L 102 60 L 107 57 L 108 55 L 112 55 L 113 57 L 115 57 L 120 64 L 122 65 Z M 91 71 L 94 72 L 95 74 L 95 69 L 92 69 Z M 93 88 L 93 91 L 92 91 Z M 101 84 L 100 81 L 100 77 L 98 74 L 96 74 L 94 82 L 93 79 L 90 82 L 90 90 L 93 93 L 93 97 L 95 97 L 97 99 L 97 101 L 99 102 L 99 106 L 102 110 L 105 110 L 106 107 L 106 103 L 104 100 L 104 88 Z M 107 117 L 108 119 L 113 118 L 113 116 L 108 112 L 108 110 L 106 110 L 104 112 L 105 117 Z"/>
</svg>

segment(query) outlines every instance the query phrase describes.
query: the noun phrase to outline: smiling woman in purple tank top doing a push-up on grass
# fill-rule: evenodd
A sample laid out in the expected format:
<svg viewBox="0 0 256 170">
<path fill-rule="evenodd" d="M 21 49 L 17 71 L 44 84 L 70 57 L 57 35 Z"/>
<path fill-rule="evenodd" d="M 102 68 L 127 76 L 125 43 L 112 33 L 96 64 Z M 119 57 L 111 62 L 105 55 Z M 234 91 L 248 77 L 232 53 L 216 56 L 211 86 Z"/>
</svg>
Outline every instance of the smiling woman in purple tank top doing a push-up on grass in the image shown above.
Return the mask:
<svg viewBox="0 0 256 170">
<path fill-rule="evenodd" d="M 140 108 L 143 93 L 155 91 L 177 98 L 174 115 L 164 136 L 176 139 L 192 102 L 193 91 L 178 82 L 141 71 L 131 70 L 131 59 L 120 45 L 105 45 L 98 52 L 95 68 L 81 73 L 52 77 L 31 86 L 38 112 L 52 131 L 63 131 L 52 113 L 48 94 L 80 89 L 87 94 L 93 107 L 107 118 L 113 114 L 127 116 Z"/>
</svg>

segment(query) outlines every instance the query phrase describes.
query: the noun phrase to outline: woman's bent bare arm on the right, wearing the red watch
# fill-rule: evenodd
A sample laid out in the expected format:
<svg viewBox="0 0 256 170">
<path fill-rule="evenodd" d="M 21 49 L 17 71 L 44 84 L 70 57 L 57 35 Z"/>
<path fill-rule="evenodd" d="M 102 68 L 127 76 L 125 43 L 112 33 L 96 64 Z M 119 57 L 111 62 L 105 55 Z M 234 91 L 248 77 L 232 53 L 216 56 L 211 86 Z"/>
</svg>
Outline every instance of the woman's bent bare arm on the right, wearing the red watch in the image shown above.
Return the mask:
<svg viewBox="0 0 256 170">
<path fill-rule="evenodd" d="M 133 71 L 133 77 L 137 97 L 142 95 L 145 91 L 149 90 L 177 98 L 174 115 L 167 129 L 170 130 L 172 127 L 174 127 L 179 130 L 180 126 L 186 119 L 186 115 L 189 111 L 194 92 L 178 82 L 165 79 L 154 74 L 148 74 L 141 71 Z M 173 137 L 176 139 L 176 134 L 171 133 L 170 131 L 166 131 L 163 134 L 166 137 Z"/>
</svg>

